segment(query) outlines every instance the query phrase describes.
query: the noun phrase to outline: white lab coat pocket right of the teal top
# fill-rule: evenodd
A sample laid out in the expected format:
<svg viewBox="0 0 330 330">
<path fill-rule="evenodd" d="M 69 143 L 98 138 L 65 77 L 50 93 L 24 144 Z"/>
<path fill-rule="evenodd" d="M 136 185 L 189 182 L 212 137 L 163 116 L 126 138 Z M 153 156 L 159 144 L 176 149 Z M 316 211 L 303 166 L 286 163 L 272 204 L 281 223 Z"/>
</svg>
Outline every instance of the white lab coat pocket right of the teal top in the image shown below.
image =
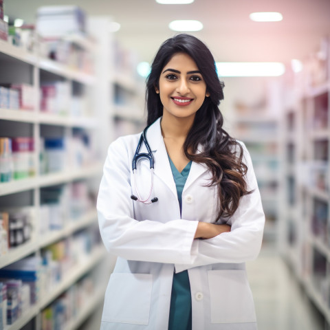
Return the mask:
<svg viewBox="0 0 330 330">
<path fill-rule="evenodd" d="M 209 270 L 211 323 L 256 322 L 245 270 Z"/>
</svg>

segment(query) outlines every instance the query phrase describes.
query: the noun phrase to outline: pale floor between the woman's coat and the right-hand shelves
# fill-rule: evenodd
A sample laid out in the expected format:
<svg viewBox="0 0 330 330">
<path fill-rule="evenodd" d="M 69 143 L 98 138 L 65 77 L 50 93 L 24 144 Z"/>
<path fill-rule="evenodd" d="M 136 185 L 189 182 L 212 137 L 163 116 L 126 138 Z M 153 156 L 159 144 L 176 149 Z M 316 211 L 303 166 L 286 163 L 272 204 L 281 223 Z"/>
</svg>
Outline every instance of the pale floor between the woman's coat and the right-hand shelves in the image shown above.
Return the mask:
<svg viewBox="0 0 330 330">
<path fill-rule="evenodd" d="M 247 263 L 259 330 L 325 330 L 318 310 L 276 249 L 265 247 Z"/>
</svg>

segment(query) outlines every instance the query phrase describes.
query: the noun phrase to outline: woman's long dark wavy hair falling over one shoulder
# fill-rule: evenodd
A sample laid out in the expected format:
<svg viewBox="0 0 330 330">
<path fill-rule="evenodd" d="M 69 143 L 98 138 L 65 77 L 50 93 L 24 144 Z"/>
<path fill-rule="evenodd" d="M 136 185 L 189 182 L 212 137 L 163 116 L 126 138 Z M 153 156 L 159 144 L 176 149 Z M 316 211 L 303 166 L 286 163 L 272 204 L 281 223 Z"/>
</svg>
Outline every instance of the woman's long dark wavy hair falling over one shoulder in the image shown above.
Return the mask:
<svg viewBox="0 0 330 330">
<path fill-rule="evenodd" d="M 244 175 L 248 170 L 242 162 L 243 148 L 223 130 L 223 116 L 218 108 L 223 100 L 224 84 L 219 80 L 214 58 L 204 43 L 190 34 L 178 34 L 166 40 L 151 65 L 146 81 L 147 124 L 152 124 L 163 114 L 163 105 L 156 93 L 159 76 L 173 55 L 188 54 L 196 63 L 210 94 L 195 115 L 194 123 L 184 142 L 184 154 L 193 162 L 203 163 L 212 173 L 210 186 L 217 186 L 219 195 L 218 221 L 234 214 L 243 195 L 248 195 Z M 197 148 L 202 146 L 201 152 Z"/>
</svg>

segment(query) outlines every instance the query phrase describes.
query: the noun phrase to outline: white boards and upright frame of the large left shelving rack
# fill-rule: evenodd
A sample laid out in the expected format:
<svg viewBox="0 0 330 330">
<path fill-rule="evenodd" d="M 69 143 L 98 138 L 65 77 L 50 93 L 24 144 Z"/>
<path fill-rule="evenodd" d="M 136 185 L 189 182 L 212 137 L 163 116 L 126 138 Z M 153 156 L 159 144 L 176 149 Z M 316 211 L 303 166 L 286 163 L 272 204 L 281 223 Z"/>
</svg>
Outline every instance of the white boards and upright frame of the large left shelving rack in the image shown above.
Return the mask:
<svg viewBox="0 0 330 330">
<path fill-rule="evenodd" d="M 76 43 L 79 47 L 85 48 L 88 52 L 94 52 L 96 48 L 95 43 L 82 39 L 79 36 L 70 36 L 70 41 Z M 94 55 L 93 55 L 94 56 Z M 15 67 L 18 66 L 16 69 Z M 8 199 L 14 201 L 17 194 L 22 193 L 30 194 L 30 203 L 28 206 L 34 209 L 34 227 L 32 229 L 32 238 L 30 241 L 23 243 L 17 248 L 10 248 L 9 252 L 0 258 L 0 268 L 10 265 L 15 261 L 25 258 L 26 256 L 40 255 L 41 249 L 67 239 L 75 232 L 85 230 L 97 223 L 96 209 L 87 212 L 83 217 L 78 219 L 66 219 L 66 223 L 61 230 L 52 230 L 47 234 L 39 234 L 39 221 L 42 219 L 39 216 L 41 188 L 48 186 L 58 186 L 61 184 L 69 184 L 76 180 L 95 179 L 99 181 L 102 175 L 102 164 L 104 159 L 102 156 L 102 148 L 107 146 L 100 146 L 98 150 L 94 150 L 96 155 L 99 155 L 99 159 L 93 159 L 89 164 L 80 168 L 67 168 L 58 173 L 50 173 L 46 175 L 40 175 L 39 153 L 40 146 L 39 140 L 41 138 L 42 126 L 45 131 L 52 130 L 54 127 L 58 131 L 63 132 L 64 136 L 70 134 L 73 129 L 85 129 L 89 131 L 95 140 L 98 140 L 98 127 L 103 118 L 100 117 L 100 113 L 91 109 L 90 115 L 84 116 L 70 116 L 70 115 L 57 115 L 52 113 L 43 113 L 39 107 L 39 86 L 42 83 L 43 76 L 52 76 L 54 80 L 67 81 L 73 85 L 76 84 L 85 91 L 93 91 L 98 89 L 98 76 L 96 74 L 86 74 L 80 72 L 78 69 L 67 67 L 56 61 L 52 61 L 47 58 L 39 56 L 38 50 L 30 53 L 22 50 L 19 47 L 14 47 L 5 41 L 0 41 L 0 67 L 1 67 L 1 83 L 30 83 L 33 86 L 36 98 L 34 102 L 34 109 L 32 111 L 26 111 L 23 109 L 0 109 L 0 134 L 1 136 L 8 136 L 8 129 L 3 133 L 3 127 L 10 127 L 11 135 L 14 136 L 30 136 L 34 138 L 34 160 L 35 160 L 35 172 L 33 177 L 26 179 L 13 180 L 6 183 L 0 183 L 0 207 L 5 210 L 7 205 L 5 201 Z M 20 74 L 19 70 L 22 69 Z M 13 78 L 11 78 L 11 72 L 13 72 Z M 8 81 L 6 82 L 5 79 Z M 93 103 L 91 103 L 93 104 Z M 23 127 L 23 131 L 21 128 Z M 98 144 L 96 144 L 98 146 Z M 95 145 L 93 146 L 95 148 Z M 19 199 L 19 198 L 17 198 Z M 22 203 L 25 203 L 23 201 Z M 21 201 L 17 201 L 17 206 L 21 205 Z M 32 322 L 34 329 L 40 329 L 41 327 L 41 311 L 50 305 L 53 300 L 63 294 L 69 287 L 74 285 L 82 276 L 94 270 L 94 268 L 100 264 L 100 261 L 106 258 L 107 254 L 102 245 L 96 246 L 91 251 L 86 259 L 80 261 L 74 265 L 74 268 L 64 275 L 63 281 L 58 283 L 56 287 L 47 295 L 42 296 L 28 311 L 23 314 L 12 325 L 7 325 L 5 330 L 18 330 Z M 81 325 L 81 323 L 98 307 L 103 299 L 104 288 L 106 282 L 98 283 L 99 286 L 94 292 L 94 296 L 91 296 L 91 300 L 83 307 L 78 316 L 72 320 L 65 329 L 74 330 Z"/>
</svg>

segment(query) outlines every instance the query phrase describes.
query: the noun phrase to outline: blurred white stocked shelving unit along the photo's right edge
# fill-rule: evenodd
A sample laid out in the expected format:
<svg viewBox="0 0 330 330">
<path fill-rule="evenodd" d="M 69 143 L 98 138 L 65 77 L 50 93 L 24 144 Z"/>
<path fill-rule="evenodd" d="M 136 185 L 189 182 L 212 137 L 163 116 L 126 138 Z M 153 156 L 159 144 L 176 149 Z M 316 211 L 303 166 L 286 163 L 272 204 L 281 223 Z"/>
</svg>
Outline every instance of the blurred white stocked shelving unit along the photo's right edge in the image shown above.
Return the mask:
<svg viewBox="0 0 330 330">
<path fill-rule="evenodd" d="M 283 80 L 285 193 L 279 246 L 330 329 L 329 39 L 321 46 L 303 72 L 289 72 Z"/>
</svg>

